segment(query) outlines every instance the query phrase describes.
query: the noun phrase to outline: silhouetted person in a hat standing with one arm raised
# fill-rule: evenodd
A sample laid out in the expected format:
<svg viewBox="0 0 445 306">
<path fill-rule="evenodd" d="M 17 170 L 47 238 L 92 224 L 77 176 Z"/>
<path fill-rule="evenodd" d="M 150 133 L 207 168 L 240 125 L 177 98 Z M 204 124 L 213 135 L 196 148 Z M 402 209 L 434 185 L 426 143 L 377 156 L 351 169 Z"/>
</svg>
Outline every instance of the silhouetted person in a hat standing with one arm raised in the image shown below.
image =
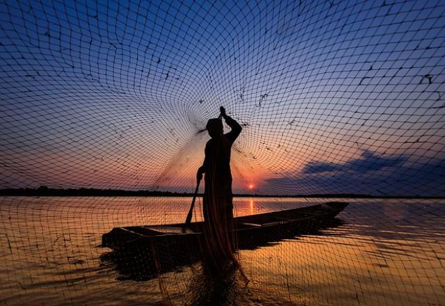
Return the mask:
<svg viewBox="0 0 445 306">
<path fill-rule="evenodd" d="M 232 173 L 230 171 L 230 152 L 232 144 L 241 133 L 241 125 L 225 113 L 220 107 L 220 117 L 207 122 L 207 131 L 211 139 L 205 148 L 205 159 L 197 170 L 197 180 L 205 173 L 203 200 L 204 227 L 209 246 L 226 250 L 233 255 L 233 241 L 229 234 L 233 230 Z M 232 128 L 223 134 L 223 120 Z M 227 254 L 227 256 L 230 256 Z"/>
</svg>

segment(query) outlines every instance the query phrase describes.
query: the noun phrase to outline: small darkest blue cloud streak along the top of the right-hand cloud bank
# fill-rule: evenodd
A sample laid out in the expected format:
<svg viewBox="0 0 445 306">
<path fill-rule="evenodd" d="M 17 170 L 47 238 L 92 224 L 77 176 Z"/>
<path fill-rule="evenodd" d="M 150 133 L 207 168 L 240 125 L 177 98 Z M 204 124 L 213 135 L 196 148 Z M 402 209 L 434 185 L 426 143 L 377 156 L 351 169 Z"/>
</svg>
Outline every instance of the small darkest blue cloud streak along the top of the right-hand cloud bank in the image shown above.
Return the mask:
<svg viewBox="0 0 445 306">
<path fill-rule="evenodd" d="M 406 156 L 379 156 L 373 152 L 365 151 L 359 159 L 351 159 L 346 163 L 325 163 L 311 161 L 302 170 L 305 174 L 323 172 L 369 172 L 386 167 L 400 166 L 407 160 Z"/>
</svg>

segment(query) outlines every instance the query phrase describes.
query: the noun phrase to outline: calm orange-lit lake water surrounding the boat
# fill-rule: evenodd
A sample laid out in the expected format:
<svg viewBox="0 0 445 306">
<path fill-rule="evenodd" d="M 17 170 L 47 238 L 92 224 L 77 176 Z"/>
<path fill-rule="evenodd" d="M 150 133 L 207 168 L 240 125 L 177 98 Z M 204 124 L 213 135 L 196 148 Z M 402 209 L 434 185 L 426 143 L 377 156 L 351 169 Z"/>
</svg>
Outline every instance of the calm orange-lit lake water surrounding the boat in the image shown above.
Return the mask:
<svg viewBox="0 0 445 306">
<path fill-rule="evenodd" d="M 329 200 L 236 198 L 234 212 Z M 215 293 L 199 263 L 136 281 L 101 259 L 102 234 L 184 222 L 190 198 L 3 197 L 0 305 L 196 305 L 212 294 L 227 305 L 445 305 L 445 202 L 343 201 L 337 226 L 239 251 L 248 281 L 235 272 Z"/>
</svg>

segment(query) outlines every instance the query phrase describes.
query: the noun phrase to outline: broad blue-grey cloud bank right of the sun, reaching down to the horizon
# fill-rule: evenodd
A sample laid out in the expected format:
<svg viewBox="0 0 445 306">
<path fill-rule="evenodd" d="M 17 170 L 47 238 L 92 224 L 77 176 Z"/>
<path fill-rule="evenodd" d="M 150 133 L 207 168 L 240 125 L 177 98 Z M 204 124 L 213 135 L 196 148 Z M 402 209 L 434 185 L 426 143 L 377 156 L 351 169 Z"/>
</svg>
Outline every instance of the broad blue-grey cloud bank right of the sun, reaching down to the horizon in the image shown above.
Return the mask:
<svg viewBox="0 0 445 306">
<path fill-rule="evenodd" d="M 289 194 L 356 193 L 445 196 L 445 161 L 410 163 L 407 156 L 365 152 L 346 163 L 308 163 L 296 177 L 266 179 L 264 190 Z"/>
</svg>

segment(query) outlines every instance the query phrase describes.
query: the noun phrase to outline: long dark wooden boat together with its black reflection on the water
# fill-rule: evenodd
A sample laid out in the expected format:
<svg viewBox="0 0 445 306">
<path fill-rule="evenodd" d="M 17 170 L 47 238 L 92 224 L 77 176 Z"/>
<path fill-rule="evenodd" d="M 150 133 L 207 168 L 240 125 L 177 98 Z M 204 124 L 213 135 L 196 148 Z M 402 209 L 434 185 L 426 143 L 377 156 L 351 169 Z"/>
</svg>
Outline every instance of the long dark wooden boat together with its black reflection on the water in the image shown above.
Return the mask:
<svg viewBox="0 0 445 306">
<path fill-rule="evenodd" d="M 236 248 L 254 250 L 282 239 L 302 234 L 318 234 L 323 228 L 342 224 L 334 218 L 348 203 L 327 202 L 309 207 L 234 219 Z M 111 252 L 101 255 L 104 263 L 115 266 L 119 280 L 149 280 L 161 273 L 206 261 L 206 239 L 202 222 L 191 223 L 184 233 L 183 223 L 115 227 L 102 236 L 102 246 Z"/>
</svg>

